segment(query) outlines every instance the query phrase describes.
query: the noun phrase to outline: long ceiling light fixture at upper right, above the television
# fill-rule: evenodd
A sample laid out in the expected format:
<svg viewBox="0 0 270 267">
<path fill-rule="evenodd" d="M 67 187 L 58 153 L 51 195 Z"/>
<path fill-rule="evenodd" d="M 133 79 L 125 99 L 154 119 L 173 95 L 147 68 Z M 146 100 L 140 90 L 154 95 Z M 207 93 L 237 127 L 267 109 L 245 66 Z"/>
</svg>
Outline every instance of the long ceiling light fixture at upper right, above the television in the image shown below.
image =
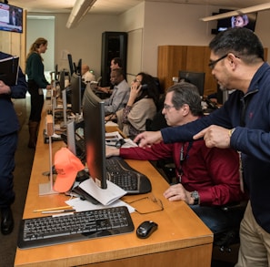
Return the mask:
<svg viewBox="0 0 270 267">
<path fill-rule="evenodd" d="M 248 13 L 262 11 L 262 10 L 266 10 L 266 9 L 270 9 L 270 3 L 266 3 L 266 4 L 262 4 L 262 5 L 254 5 L 254 6 L 238 9 L 235 11 L 230 11 L 230 12 L 218 14 L 218 15 L 206 16 L 206 17 L 201 18 L 201 20 L 211 21 L 211 20 L 215 20 L 215 19 L 226 18 L 226 17 L 233 16 L 233 15 L 248 14 Z"/>
</svg>

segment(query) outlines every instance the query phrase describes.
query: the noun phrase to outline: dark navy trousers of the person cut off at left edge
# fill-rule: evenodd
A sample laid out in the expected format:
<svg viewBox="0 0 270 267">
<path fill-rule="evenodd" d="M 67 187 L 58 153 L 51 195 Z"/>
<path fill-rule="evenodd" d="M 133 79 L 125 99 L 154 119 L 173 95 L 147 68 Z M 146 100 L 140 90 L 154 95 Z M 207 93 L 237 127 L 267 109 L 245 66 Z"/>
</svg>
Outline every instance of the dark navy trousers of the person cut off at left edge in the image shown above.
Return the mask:
<svg viewBox="0 0 270 267">
<path fill-rule="evenodd" d="M 13 171 L 17 142 L 17 132 L 0 137 L 0 208 L 9 207 L 15 200 Z"/>
</svg>

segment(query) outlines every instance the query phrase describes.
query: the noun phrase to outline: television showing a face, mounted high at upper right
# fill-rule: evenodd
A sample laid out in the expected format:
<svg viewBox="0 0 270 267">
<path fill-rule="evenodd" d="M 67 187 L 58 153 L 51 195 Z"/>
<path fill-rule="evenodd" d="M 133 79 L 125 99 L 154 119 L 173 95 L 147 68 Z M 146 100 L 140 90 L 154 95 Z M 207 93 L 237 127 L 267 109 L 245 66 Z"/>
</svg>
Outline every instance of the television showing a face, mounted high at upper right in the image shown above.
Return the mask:
<svg viewBox="0 0 270 267">
<path fill-rule="evenodd" d="M 230 11 L 234 11 L 234 10 L 219 9 L 219 14 L 230 12 Z M 229 16 L 223 19 L 218 19 L 216 34 L 221 31 L 225 31 L 227 28 L 230 28 L 230 27 L 245 27 L 254 32 L 256 19 L 257 19 L 256 12 L 248 13 L 248 14 L 233 15 L 233 16 Z"/>
</svg>

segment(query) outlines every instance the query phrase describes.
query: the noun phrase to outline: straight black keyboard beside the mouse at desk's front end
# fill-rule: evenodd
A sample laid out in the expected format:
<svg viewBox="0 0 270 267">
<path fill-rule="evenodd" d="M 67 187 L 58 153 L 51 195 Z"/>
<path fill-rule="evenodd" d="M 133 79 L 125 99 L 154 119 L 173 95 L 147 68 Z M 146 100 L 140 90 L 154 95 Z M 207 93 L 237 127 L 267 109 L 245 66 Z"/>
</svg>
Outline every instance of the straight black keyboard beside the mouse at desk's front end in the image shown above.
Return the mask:
<svg viewBox="0 0 270 267">
<path fill-rule="evenodd" d="M 18 247 L 29 249 L 134 231 L 126 207 L 80 211 L 21 221 Z"/>
</svg>

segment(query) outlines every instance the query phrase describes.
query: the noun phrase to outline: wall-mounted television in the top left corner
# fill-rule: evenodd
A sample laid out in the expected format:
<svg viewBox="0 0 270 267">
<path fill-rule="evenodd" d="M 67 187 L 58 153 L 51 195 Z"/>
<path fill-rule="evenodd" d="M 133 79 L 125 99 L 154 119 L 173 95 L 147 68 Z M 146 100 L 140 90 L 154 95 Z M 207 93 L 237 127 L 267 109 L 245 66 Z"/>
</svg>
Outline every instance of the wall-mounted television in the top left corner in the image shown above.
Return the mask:
<svg viewBox="0 0 270 267">
<path fill-rule="evenodd" d="M 23 8 L 0 3 L 0 30 L 23 33 L 23 15 Z"/>
</svg>

